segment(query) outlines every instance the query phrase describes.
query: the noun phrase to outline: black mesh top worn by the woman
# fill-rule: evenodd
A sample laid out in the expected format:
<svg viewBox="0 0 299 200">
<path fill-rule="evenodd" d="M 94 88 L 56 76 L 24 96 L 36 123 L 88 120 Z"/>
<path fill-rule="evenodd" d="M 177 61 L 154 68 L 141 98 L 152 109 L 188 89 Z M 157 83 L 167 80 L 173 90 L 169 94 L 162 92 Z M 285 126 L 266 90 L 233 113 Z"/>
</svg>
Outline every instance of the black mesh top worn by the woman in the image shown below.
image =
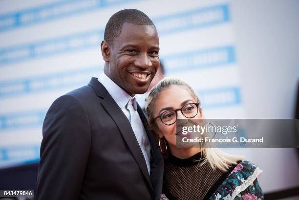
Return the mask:
<svg viewBox="0 0 299 200">
<path fill-rule="evenodd" d="M 211 165 L 202 163 L 201 153 L 187 159 L 170 155 L 165 160 L 163 193 L 169 200 L 209 199 L 229 172 L 213 170 Z"/>
</svg>

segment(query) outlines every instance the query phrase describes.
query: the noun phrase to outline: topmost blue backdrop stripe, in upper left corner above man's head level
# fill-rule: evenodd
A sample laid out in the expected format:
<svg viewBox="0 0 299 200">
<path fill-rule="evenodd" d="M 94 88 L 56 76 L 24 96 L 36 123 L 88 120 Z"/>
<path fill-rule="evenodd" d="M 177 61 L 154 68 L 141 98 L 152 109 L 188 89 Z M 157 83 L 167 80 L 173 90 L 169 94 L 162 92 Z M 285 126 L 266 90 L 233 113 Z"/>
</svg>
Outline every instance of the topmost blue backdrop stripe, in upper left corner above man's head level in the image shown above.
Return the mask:
<svg viewBox="0 0 299 200">
<path fill-rule="evenodd" d="M 61 19 L 136 0 L 63 0 L 0 16 L 0 31 Z"/>
</svg>

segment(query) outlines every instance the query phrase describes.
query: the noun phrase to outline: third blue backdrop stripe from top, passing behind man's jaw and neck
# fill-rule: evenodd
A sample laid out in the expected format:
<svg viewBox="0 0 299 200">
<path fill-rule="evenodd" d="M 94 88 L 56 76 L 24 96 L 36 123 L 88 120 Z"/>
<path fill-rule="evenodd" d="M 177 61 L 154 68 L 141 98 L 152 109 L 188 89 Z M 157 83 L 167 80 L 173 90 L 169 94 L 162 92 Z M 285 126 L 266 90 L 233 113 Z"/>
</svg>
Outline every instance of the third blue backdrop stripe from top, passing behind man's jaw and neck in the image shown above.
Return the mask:
<svg viewBox="0 0 299 200">
<path fill-rule="evenodd" d="M 223 67 L 235 63 L 234 46 L 221 46 L 210 49 L 196 49 L 189 52 L 166 56 L 163 59 L 166 74 L 188 71 L 204 67 Z M 88 83 L 91 76 L 100 74 L 102 67 L 86 67 L 79 70 L 55 73 L 23 80 L 0 82 L 0 99 L 32 92 L 53 89 L 76 88 Z"/>
</svg>

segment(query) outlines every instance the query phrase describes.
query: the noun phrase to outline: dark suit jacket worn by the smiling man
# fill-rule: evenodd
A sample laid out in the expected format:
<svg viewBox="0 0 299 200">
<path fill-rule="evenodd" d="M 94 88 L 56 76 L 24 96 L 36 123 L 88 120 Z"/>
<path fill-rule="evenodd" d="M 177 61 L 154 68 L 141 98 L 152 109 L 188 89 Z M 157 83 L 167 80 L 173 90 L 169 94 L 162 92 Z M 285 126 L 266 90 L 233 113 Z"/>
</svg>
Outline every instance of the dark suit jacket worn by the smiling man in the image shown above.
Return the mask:
<svg viewBox="0 0 299 200">
<path fill-rule="evenodd" d="M 158 200 L 163 157 L 146 117 L 150 176 L 128 118 L 92 78 L 54 101 L 43 123 L 37 200 Z"/>
</svg>

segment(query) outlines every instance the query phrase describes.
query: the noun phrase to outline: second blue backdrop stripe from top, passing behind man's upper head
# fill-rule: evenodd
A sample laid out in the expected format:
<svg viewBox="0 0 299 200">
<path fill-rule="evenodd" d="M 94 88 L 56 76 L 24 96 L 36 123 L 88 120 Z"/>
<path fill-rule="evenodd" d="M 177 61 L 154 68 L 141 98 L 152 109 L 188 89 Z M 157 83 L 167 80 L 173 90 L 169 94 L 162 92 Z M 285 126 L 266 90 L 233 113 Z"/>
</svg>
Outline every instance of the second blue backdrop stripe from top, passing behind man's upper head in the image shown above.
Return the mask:
<svg viewBox="0 0 299 200">
<path fill-rule="evenodd" d="M 206 27 L 230 20 L 228 5 L 201 8 L 183 13 L 176 13 L 154 20 L 159 35 L 176 31 Z M 104 38 L 104 29 L 90 30 L 84 33 L 48 39 L 32 44 L 23 44 L 0 49 L 0 66 L 50 56 L 63 52 L 98 47 Z"/>
</svg>

